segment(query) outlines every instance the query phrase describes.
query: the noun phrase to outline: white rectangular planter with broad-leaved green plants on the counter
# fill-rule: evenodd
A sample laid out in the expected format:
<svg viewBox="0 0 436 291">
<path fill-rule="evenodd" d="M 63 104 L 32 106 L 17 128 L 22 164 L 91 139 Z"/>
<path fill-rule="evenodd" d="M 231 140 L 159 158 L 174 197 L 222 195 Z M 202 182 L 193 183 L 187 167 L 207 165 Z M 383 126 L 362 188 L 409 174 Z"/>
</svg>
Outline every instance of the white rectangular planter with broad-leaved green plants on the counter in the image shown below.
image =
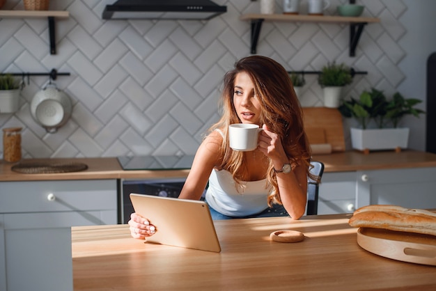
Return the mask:
<svg viewBox="0 0 436 291">
<path fill-rule="evenodd" d="M 338 108 L 345 118 L 355 118 L 361 128 L 350 128 L 352 148 L 368 152 L 369 150 L 399 151 L 407 148 L 409 128 L 398 127 L 400 118 L 407 114 L 416 117 L 424 113 L 414 106 L 421 103 L 414 98 L 405 99 L 400 93 L 395 93 L 388 101 L 382 91 L 372 88 L 364 91 L 359 100 L 350 98 Z M 375 128 L 369 128 L 374 121 Z"/>
</svg>

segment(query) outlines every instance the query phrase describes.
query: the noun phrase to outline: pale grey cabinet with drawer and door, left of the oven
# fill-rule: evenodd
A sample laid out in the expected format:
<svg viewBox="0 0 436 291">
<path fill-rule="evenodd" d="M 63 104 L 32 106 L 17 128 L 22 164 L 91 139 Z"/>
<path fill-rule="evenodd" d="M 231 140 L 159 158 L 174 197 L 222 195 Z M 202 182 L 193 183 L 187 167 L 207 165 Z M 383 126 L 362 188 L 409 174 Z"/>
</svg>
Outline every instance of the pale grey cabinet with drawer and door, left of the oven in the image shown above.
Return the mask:
<svg viewBox="0 0 436 291">
<path fill-rule="evenodd" d="M 72 290 L 71 226 L 116 224 L 116 185 L 0 182 L 0 290 Z"/>
</svg>

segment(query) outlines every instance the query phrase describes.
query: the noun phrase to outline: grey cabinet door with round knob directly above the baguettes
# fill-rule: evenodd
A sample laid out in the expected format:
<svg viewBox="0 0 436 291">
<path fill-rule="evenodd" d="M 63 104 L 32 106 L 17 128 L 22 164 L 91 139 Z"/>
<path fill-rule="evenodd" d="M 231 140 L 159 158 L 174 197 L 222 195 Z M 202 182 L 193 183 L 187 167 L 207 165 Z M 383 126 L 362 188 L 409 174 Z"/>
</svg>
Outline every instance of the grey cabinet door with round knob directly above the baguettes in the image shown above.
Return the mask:
<svg viewBox="0 0 436 291">
<path fill-rule="evenodd" d="M 392 204 L 436 208 L 436 168 L 357 172 L 357 205 Z"/>
</svg>

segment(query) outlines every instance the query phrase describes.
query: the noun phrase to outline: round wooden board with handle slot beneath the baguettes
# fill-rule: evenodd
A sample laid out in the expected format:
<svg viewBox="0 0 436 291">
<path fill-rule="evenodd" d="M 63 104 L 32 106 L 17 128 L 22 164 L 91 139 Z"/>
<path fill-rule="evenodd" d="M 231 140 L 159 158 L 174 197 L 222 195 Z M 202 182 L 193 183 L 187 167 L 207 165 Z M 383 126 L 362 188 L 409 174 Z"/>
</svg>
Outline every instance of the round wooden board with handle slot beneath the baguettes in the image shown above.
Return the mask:
<svg viewBox="0 0 436 291">
<path fill-rule="evenodd" d="M 436 236 L 359 228 L 357 244 L 385 258 L 436 266 Z"/>
</svg>

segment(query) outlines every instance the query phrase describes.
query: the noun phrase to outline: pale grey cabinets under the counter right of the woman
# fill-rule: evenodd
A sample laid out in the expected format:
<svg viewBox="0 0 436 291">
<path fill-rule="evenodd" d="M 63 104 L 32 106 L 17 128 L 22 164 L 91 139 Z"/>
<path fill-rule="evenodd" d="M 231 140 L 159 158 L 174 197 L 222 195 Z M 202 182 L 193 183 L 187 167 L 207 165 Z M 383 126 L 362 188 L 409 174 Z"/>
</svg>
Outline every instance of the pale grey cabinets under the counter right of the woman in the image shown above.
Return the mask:
<svg viewBox="0 0 436 291">
<path fill-rule="evenodd" d="M 318 214 L 351 213 L 371 204 L 436 208 L 436 168 L 324 173 Z"/>
</svg>

